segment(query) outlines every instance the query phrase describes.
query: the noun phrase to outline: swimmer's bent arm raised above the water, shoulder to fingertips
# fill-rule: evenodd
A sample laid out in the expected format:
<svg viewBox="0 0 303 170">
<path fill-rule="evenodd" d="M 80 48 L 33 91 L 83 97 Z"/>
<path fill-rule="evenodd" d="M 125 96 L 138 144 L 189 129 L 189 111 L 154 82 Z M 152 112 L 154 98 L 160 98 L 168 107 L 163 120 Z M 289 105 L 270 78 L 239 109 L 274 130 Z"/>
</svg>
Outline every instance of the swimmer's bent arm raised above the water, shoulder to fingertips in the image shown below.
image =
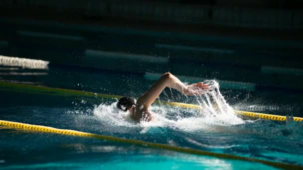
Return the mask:
<svg viewBox="0 0 303 170">
<path fill-rule="evenodd" d="M 205 85 L 202 82 L 192 85 L 184 85 L 172 74 L 165 73 L 146 93 L 144 93 L 137 100 L 136 110 L 139 111 L 138 108 L 140 108 L 141 111 L 147 111 L 153 101 L 159 96 L 165 87 L 177 89 L 184 95 L 201 95 L 203 94 L 204 90 L 209 88 L 208 85 Z"/>
</svg>

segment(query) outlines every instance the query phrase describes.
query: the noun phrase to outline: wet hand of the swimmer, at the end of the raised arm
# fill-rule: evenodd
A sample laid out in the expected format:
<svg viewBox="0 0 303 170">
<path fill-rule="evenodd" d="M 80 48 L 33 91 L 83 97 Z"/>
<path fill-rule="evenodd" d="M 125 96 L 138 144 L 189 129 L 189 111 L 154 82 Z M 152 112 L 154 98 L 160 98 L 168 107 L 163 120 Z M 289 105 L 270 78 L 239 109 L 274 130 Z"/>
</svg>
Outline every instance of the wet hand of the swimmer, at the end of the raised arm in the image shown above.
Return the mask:
<svg viewBox="0 0 303 170">
<path fill-rule="evenodd" d="M 186 85 L 186 88 L 183 90 L 184 95 L 202 95 L 207 90 L 209 90 L 209 86 L 200 82 L 192 85 Z"/>
</svg>

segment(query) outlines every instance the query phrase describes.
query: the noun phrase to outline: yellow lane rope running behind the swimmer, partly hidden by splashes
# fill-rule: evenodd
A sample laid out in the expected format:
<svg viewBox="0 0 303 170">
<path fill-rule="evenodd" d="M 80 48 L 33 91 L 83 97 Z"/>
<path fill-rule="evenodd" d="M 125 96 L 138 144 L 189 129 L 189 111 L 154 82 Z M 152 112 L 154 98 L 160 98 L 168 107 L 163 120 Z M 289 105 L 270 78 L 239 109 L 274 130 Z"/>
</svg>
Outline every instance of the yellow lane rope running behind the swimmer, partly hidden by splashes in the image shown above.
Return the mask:
<svg viewBox="0 0 303 170">
<path fill-rule="evenodd" d="M 16 92 L 30 92 L 34 94 L 47 94 L 47 95 L 61 95 L 61 96 L 88 96 L 88 97 L 101 97 L 101 98 L 117 98 L 120 99 L 122 96 L 120 95 L 109 95 L 109 94 L 100 94 L 93 93 L 88 91 L 80 91 L 80 90 L 72 90 L 72 89 L 64 89 L 64 88 L 53 88 L 53 87 L 45 87 L 38 85 L 23 85 L 23 84 L 14 84 L 7 82 L 0 82 L 0 90 L 1 87 L 4 90 L 12 90 Z M 200 109 L 200 106 L 195 104 L 186 104 L 186 103 L 178 103 L 178 102 L 165 102 L 165 101 L 155 101 L 157 103 L 162 103 L 171 106 L 178 106 L 183 108 L 192 108 L 192 109 Z M 264 113 L 255 113 L 255 112 L 247 112 L 235 110 L 235 113 L 241 116 L 249 117 L 249 118 L 257 118 L 257 119 L 266 119 L 266 120 L 279 120 L 286 121 L 286 116 L 279 116 L 274 114 L 264 114 Z M 293 117 L 294 121 L 303 121 L 302 117 Z"/>
</svg>

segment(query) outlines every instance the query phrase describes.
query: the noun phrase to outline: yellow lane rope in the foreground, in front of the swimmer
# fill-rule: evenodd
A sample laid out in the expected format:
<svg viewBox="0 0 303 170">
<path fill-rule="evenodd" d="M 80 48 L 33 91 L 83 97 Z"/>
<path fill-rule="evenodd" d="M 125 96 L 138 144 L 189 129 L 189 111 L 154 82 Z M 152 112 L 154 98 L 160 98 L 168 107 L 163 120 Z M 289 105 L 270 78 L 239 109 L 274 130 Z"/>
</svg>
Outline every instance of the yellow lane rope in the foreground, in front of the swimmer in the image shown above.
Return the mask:
<svg viewBox="0 0 303 170">
<path fill-rule="evenodd" d="M 299 166 L 299 165 L 271 162 L 271 161 L 265 161 L 265 160 L 259 160 L 259 159 L 254 159 L 254 158 L 247 158 L 247 157 L 240 157 L 240 156 L 229 155 L 229 154 L 213 153 L 213 152 L 208 152 L 208 151 L 175 147 L 175 146 L 169 146 L 169 145 L 165 145 L 165 144 L 150 143 L 150 142 L 144 142 L 144 141 L 133 140 L 133 139 L 123 139 L 123 138 L 117 138 L 117 137 L 112 137 L 112 136 L 80 132 L 80 131 L 75 131 L 75 130 L 57 129 L 57 128 L 52 128 L 52 127 L 47 127 L 47 126 L 30 125 L 30 124 L 11 122 L 11 121 L 5 121 L 5 120 L 0 120 L 0 125 L 9 127 L 9 128 L 24 129 L 27 131 L 86 137 L 86 138 L 93 138 L 93 139 L 98 139 L 98 140 L 107 140 L 107 141 L 112 141 L 112 142 L 140 145 L 140 146 L 144 146 L 144 147 L 151 147 L 151 148 L 175 151 L 175 152 L 186 153 L 186 154 L 209 156 L 209 157 L 215 157 L 215 158 L 220 158 L 220 159 L 255 162 L 255 163 L 261 163 L 264 165 L 268 165 L 268 166 L 272 166 L 272 167 L 276 167 L 276 168 L 280 168 L 280 169 L 287 169 L 287 170 L 303 169 L 303 166 Z"/>
</svg>

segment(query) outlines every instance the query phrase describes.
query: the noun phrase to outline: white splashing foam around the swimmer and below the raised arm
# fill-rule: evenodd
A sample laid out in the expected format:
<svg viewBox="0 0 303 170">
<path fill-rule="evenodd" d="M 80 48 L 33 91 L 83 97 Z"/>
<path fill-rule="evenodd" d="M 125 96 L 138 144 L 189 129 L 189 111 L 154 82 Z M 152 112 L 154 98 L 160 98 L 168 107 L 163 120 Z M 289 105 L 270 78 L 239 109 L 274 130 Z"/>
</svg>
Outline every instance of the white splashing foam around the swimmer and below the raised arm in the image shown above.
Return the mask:
<svg viewBox="0 0 303 170">
<path fill-rule="evenodd" d="M 151 127 L 169 127 L 184 131 L 209 130 L 214 126 L 230 126 L 245 123 L 237 117 L 233 108 L 228 105 L 219 90 L 216 81 L 205 82 L 210 86 L 202 96 L 195 96 L 200 110 L 184 109 L 165 105 L 152 105 L 154 121 L 135 123 L 129 112 L 120 111 L 114 103 L 102 103 L 94 108 L 94 115 L 104 124 L 110 126 L 142 127 L 142 133 Z"/>
</svg>

